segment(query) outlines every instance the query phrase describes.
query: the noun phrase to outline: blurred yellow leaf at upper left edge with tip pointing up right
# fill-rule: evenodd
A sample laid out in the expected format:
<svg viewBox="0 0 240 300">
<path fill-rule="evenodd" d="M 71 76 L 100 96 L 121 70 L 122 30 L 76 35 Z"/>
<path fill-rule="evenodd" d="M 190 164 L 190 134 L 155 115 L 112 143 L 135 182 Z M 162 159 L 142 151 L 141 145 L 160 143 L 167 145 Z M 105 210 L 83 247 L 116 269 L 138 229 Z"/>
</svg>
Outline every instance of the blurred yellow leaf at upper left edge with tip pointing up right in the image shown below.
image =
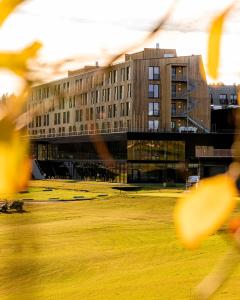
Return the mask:
<svg viewBox="0 0 240 300">
<path fill-rule="evenodd" d="M 41 43 L 34 42 L 20 52 L 0 52 L 0 68 L 9 69 L 18 76 L 25 77 L 28 60 L 35 57 Z"/>
</svg>

